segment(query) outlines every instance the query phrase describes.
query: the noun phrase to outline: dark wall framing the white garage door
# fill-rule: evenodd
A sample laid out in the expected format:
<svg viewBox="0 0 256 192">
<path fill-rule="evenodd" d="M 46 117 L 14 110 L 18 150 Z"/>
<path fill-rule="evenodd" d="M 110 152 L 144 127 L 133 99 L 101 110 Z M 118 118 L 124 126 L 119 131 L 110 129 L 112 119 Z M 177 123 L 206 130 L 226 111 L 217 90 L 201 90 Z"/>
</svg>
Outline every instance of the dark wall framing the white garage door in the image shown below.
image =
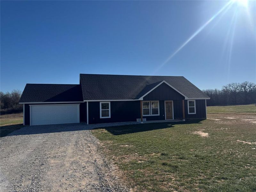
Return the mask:
<svg viewBox="0 0 256 192">
<path fill-rule="evenodd" d="M 35 104 L 35 105 L 52 105 L 52 104 L 76 104 L 76 103 L 45 103 L 45 104 Z M 86 102 L 79 103 L 79 113 L 80 113 L 80 122 L 86 122 Z M 30 124 L 30 108 L 29 105 L 33 104 L 25 104 L 25 125 Z"/>
</svg>

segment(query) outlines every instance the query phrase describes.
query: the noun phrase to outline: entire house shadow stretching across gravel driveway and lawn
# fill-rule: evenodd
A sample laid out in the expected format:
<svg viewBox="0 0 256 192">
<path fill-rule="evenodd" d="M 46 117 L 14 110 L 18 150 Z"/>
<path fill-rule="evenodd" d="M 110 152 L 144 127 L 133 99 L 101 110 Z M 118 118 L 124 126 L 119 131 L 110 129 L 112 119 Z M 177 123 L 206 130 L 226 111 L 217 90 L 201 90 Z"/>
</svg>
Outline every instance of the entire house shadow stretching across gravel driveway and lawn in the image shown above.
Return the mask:
<svg viewBox="0 0 256 192">
<path fill-rule="evenodd" d="M 193 120 L 185 122 L 165 122 L 165 123 L 148 123 L 148 124 L 126 124 L 126 125 L 115 125 L 110 124 L 53 124 L 53 125 L 34 125 L 28 126 L 23 124 L 6 125 L 1 126 L 1 137 L 12 136 L 12 135 L 31 135 L 31 134 L 42 134 L 42 133 L 56 133 L 56 132 L 71 132 L 71 131 L 82 131 L 92 129 L 105 129 L 113 135 L 122 135 L 136 132 L 145 132 L 156 129 L 171 128 L 177 124 L 198 124 L 202 120 Z"/>
</svg>

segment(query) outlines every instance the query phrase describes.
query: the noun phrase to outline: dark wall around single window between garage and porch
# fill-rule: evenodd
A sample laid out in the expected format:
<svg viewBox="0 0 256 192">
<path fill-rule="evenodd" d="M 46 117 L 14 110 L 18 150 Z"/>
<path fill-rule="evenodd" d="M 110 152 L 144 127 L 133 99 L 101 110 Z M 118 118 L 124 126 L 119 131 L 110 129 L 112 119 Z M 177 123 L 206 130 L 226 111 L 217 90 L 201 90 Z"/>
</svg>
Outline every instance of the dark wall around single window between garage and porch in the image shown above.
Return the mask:
<svg viewBox="0 0 256 192">
<path fill-rule="evenodd" d="M 140 101 L 111 101 L 111 118 L 100 118 L 100 102 L 88 103 L 89 124 L 136 121 L 140 118 Z"/>
</svg>

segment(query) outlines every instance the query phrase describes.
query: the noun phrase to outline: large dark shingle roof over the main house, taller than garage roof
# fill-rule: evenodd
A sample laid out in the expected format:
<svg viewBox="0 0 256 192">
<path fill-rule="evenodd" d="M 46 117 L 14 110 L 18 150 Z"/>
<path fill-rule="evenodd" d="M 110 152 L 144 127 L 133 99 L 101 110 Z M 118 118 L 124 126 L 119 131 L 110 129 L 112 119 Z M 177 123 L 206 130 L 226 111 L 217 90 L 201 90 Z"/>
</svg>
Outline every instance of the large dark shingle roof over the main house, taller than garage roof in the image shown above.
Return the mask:
<svg viewBox="0 0 256 192">
<path fill-rule="evenodd" d="M 210 99 L 183 76 L 133 76 L 80 74 L 84 100 L 142 100 L 141 97 L 162 83 L 185 99 Z"/>
</svg>

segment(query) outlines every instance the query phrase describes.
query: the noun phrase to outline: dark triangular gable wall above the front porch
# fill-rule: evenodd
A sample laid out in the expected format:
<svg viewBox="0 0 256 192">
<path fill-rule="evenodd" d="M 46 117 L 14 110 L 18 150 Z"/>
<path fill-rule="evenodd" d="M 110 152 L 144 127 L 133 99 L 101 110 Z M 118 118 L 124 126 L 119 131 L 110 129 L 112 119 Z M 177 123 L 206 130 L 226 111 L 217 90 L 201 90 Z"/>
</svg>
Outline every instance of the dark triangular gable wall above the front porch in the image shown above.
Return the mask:
<svg viewBox="0 0 256 192">
<path fill-rule="evenodd" d="M 156 87 L 152 92 L 143 97 L 144 101 L 148 100 L 183 100 L 185 99 L 180 93 L 176 92 L 169 85 L 163 83 Z"/>
</svg>

